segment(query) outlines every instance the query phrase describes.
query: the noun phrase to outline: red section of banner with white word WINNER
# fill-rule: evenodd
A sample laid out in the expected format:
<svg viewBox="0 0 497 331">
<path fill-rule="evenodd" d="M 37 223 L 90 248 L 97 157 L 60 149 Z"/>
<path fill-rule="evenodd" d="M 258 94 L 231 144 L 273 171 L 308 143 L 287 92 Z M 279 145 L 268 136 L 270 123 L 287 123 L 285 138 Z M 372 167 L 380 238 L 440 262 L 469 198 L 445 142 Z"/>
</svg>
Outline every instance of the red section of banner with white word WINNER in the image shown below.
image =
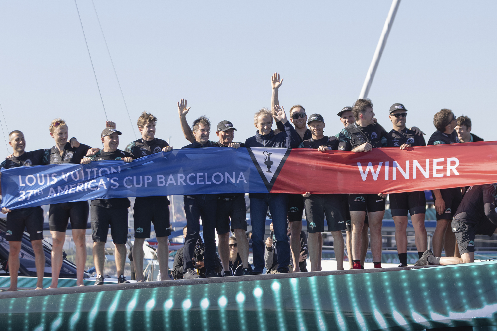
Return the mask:
<svg viewBox="0 0 497 331">
<path fill-rule="evenodd" d="M 398 193 L 489 183 L 497 183 L 497 141 L 369 152 L 294 148 L 271 193 Z"/>
</svg>

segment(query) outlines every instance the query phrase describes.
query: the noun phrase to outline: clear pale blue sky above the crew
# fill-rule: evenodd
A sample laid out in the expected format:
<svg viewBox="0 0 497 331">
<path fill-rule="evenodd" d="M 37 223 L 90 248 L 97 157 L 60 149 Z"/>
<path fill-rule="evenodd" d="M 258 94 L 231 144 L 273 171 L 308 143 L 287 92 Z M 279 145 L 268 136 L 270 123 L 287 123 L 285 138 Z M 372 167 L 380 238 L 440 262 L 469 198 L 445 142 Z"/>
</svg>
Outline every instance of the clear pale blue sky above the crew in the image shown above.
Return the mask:
<svg viewBox="0 0 497 331">
<path fill-rule="evenodd" d="M 211 140 L 217 123 L 229 120 L 234 140 L 244 142 L 255 133 L 253 114 L 270 105 L 275 71 L 284 78 L 279 101 L 287 112 L 301 104 L 323 115 L 325 134 L 338 133 L 336 114 L 357 99 L 391 5 L 94 1 L 130 123 L 92 1 L 77 3 L 107 118 L 123 133 L 121 149 L 139 137 L 143 111 L 159 119 L 156 137 L 170 138 L 174 148 L 188 144 L 181 98 L 191 107 L 189 123 L 210 118 Z M 403 0 L 368 95 L 379 123 L 391 128 L 388 110 L 403 103 L 407 125 L 427 140 L 433 115 L 450 108 L 471 117 L 473 133 L 497 140 L 486 130 L 497 90 L 496 11 L 496 1 Z M 75 2 L 0 1 L 0 45 L 0 133 L 21 130 L 26 150 L 49 148 L 48 127 L 61 117 L 70 136 L 100 147 L 106 116 Z"/>
</svg>

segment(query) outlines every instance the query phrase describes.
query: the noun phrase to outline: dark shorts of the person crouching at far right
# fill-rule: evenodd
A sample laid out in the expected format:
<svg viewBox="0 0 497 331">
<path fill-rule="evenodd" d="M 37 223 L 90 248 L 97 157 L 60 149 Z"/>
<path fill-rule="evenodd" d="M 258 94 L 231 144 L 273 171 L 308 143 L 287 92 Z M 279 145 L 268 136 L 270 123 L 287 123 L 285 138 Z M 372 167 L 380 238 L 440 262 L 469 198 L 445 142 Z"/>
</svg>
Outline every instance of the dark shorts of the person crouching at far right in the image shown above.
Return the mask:
<svg viewBox="0 0 497 331">
<path fill-rule="evenodd" d="M 460 216 L 458 214 L 456 216 Z M 477 224 L 467 223 L 464 216 L 459 219 L 454 218 L 451 223 L 452 232 L 456 235 L 459 253 L 471 253 L 475 251 L 475 235 L 482 234 L 492 236 L 497 228 L 497 225 L 492 223 L 486 216 L 482 217 Z"/>
</svg>

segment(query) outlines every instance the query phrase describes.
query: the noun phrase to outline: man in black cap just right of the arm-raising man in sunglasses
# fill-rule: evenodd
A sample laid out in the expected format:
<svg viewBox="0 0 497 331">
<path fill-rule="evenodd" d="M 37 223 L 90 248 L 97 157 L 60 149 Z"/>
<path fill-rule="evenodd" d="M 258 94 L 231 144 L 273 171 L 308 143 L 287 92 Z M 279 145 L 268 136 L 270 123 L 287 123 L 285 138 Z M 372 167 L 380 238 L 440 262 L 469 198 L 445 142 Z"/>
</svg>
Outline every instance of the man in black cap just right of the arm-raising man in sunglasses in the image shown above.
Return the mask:
<svg viewBox="0 0 497 331">
<path fill-rule="evenodd" d="M 307 123 L 312 132 L 312 138 L 304 140 L 300 148 L 317 148 L 321 152 L 328 149 L 338 149 L 338 140 L 329 141 L 329 137 L 323 134 L 325 120 L 320 114 L 312 114 Z M 307 232 L 309 233 L 308 248 L 311 259 L 311 271 L 319 270 L 320 251 L 322 246 L 319 242 L 321 232 L 325 231 L 325 216 L 328 231 L 333 236 L 333 248 L 335 251 L 337 270 L 343 270 L 344 242 L 341 234 L 345 226 L 345 210 L 343 208 L 343 196 L 341 194 L 302 194 L 307 219 Z"/>
</svg>

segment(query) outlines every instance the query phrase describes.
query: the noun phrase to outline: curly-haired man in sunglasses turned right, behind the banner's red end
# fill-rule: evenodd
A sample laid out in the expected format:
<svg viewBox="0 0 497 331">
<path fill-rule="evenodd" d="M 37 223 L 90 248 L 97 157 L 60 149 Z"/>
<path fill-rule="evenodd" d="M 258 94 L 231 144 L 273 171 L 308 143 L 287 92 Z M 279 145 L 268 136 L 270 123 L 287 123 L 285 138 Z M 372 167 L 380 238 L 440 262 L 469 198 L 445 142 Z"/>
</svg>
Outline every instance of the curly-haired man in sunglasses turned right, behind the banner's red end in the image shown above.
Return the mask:
<svg viewBox="0 0 497 331">
<path fill-rule="evenodd" d="M 433 125 L 437 131 L 433 132 L 428 145 L 443 145 L 458 143 L 459 138 L 454 128 L 457 126 L 456 116 L 450 109 L 442 109 L 433 117 Z M 455 253 L 456 238 L 449 226 L 452 217 L 462 200 L 460 188 L 432 190 L 436 210 L 436 227 L 433 232 L 433 254 L 441 256 L 442 247 L 445 256 L 451 257 Z"/>
</svg>

